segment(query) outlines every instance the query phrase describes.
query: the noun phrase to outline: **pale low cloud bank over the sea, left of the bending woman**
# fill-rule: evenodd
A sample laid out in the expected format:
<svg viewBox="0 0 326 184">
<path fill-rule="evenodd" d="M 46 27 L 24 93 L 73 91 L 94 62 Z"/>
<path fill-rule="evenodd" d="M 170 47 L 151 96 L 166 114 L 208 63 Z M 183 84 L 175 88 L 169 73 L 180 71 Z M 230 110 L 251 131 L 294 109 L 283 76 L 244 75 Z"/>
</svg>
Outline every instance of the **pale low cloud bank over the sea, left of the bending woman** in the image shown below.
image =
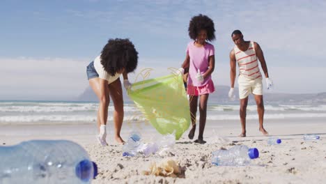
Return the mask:
<svg viewBox="0 0 326 184">
<path fill-rule="evenodd" d="M 0 58 L 0 63 L 2 99 L 69 99 L 88 85 L 83 59 Z"/>
</svg>

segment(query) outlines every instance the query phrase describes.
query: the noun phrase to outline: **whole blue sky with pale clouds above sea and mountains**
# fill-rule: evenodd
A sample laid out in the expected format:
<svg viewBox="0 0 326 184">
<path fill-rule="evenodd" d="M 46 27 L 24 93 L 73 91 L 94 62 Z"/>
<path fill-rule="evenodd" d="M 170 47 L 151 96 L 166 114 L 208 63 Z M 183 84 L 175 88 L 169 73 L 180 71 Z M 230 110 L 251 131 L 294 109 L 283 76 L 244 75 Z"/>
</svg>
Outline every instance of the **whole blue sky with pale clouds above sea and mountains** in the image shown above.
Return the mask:
<svg viewBox="0 0 326 184">
<path fill-rule="evenodd" d="M 69 100 L 86 89 L 86 66 L 109 38 L 130 38 L 150 77 L 179 68 L 192 16 L 215 22 L 217 85 L 229 85 L 231 32 L 261 45 L 274 91 L 326 91 L 325 1 L 0 2 L 0 100 Z"/>
</svg>

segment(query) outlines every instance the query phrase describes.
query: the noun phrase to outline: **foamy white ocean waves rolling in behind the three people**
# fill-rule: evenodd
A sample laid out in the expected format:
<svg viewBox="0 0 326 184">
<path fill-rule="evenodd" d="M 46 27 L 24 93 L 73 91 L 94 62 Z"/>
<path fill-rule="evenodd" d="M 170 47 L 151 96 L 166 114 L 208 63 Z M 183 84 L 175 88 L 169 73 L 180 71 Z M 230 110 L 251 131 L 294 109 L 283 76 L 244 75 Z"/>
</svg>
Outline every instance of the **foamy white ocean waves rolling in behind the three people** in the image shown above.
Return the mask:
<svg viewBox="0 0 326 184">
<path fill-rule="evenodd" d="M 124 108 L 124 121 L 146 121 L 134 104 Z M 97 110 L 97 102 L 0 101 L 0 125 L 95 123 Z M 112 121 L 113 111 L 110 105 L 108 121 Z M 326 105 L 265 105 L 265 119 L 325 117 Z M 208 105 L 207 120 L 239 119 L 239 105 Z M 258 119 L 256 105 L 248 105 L 247 119 Z"/>
</svg>

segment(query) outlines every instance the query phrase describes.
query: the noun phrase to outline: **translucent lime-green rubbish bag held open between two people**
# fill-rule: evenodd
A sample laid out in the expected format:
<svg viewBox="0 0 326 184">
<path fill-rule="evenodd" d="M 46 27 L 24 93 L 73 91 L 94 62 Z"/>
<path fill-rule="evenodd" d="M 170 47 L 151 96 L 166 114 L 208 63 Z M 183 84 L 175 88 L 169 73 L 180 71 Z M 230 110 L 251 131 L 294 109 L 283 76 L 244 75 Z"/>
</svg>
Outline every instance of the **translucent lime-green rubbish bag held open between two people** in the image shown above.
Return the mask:
<svg viewBox="0 0 326 184">
<path fill-rule="evenodd" d="M 190 125 L 189 101 L 182 75 L 167 75 L 132 84 L 128 95 L 160 134 L 178 140 Z"/>
</svg>

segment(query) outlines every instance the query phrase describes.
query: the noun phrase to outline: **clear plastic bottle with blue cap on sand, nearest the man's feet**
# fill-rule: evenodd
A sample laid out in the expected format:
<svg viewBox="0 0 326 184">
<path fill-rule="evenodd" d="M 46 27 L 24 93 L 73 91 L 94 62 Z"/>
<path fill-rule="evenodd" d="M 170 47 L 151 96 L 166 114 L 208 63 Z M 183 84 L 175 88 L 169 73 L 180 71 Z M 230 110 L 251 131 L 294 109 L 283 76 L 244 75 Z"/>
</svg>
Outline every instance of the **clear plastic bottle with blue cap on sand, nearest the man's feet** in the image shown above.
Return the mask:
<svg viewBox="0 0 326 184">
<path fill-rule="evenodd" d="M 247 146 L 233 146 L 228 150 L 217 150 L 212 153 L 212 164 L 223 166 L 237 166 L 249 164 L 252 159 L 258 158 L 257 148 Z"/>
</svg>

